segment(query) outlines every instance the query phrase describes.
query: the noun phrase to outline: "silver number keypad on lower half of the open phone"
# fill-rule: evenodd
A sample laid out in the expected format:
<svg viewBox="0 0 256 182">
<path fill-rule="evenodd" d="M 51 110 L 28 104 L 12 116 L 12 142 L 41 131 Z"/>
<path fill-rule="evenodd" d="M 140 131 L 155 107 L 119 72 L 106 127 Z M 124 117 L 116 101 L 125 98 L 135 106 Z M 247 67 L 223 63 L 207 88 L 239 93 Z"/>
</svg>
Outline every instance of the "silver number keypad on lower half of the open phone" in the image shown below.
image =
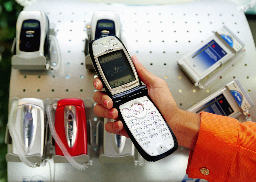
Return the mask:
<svg viewBox="0 0 256 182">
<path fill-rule="evenodd" d="M 164 143 L 164 140 L 170 138 L 171 133 L 152 102 L 145 99 L 131 103 L 130 106 L 125 105 L 121 111 L 133 136 L 142 146 L 148 148 L 153 143 L 154 145 L 161 141 Z"/>
</svg>

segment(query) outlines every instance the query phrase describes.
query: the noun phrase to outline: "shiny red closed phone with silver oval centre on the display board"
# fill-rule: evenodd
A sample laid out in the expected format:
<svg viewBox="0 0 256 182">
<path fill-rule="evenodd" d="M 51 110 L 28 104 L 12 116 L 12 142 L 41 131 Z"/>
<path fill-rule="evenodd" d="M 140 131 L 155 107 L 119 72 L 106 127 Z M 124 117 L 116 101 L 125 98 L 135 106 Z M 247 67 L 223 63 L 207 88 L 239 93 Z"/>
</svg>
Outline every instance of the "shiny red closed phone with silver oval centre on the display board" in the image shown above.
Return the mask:
<svg viewBox="0 0 256 182">
<path fill-rule="evenodd" d="M 87 154 L 86 116 L 82 100 L 68 98 L 58 101 L 55 129 L 71 156 Z M 63 155 L 57 144 L 55 153 Z"/>
</svg>

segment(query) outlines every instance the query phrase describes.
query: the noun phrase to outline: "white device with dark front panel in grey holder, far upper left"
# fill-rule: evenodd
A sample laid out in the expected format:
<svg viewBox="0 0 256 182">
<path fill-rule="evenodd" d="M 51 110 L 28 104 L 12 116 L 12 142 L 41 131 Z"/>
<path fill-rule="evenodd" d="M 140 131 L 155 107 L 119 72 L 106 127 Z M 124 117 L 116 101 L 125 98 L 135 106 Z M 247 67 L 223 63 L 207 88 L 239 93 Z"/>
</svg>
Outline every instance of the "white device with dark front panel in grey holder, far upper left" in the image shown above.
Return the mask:
<svg viewBox="0 0 256 182">
<path fill-rule="evenodd" d="M 21 11 L 16 24 L 16 55 L 12 66 L 45 70 L 49 52 L 49 20 L 44 11 Z"/>
</svg>

